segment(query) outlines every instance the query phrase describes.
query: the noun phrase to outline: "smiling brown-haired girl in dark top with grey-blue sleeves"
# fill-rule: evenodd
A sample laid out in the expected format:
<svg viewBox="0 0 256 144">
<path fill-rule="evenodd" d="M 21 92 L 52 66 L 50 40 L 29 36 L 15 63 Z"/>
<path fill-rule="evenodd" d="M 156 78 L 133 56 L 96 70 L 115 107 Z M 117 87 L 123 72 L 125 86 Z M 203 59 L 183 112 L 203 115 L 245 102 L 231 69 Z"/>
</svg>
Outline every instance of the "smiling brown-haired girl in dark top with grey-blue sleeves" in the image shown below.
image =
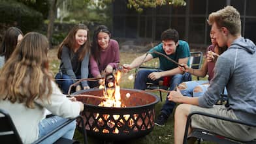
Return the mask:
<svg viewBox="0 0 256 144">
<path fill-rule="evenodd" d="M 61 42 L 57 57 L 61 60 L 61 63 L 59 72 L 55 76 L 56 83 L 63 94 L 68 94 L 69 87 L 76 83 L 77 79 L 88 78 L 89 29 L 86 25 L 82 23 L 74 25 Z M 71 89 L 71 93 L 81 89 L 89 89 L 88 81 L 82 81 L 79 85 L 76 85 L 75 89 Z"/>
</svg>

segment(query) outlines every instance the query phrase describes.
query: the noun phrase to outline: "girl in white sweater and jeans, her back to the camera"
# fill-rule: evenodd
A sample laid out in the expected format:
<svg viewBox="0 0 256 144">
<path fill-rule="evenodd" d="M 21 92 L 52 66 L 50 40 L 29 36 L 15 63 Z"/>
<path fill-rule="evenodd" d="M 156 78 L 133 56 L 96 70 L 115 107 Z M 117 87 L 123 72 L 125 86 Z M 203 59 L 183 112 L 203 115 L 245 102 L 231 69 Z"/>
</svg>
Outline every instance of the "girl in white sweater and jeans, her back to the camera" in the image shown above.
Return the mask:
<svg viewBox="0 0 256 144">
<path fill-rule="evenodd" d="M 23 143 L 33 143 L 69 118 L 77 117 L 84 104 L 61 93 L 48 69 L 48 40 L 39 33 L 27 33 L 0 71 L 0 109 L 10 114 Z M 46 111 L 56 115 L 46 118 Z M 76 121 L 46 138 L 72 139 Z"/>
</svg>

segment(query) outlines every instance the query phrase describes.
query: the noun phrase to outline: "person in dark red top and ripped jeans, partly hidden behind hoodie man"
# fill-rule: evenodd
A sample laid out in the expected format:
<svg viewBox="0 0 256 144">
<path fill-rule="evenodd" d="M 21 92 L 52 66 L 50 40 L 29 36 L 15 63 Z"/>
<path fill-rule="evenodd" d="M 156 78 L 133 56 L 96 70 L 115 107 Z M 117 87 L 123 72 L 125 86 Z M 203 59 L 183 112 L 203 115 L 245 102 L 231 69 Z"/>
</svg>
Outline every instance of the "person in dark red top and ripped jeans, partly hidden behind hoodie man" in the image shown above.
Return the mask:
<svg viewBox="0 0 256 144">
<path fill-rule="evenodd" d="M 212 31 L 210 33 L 210 38 L 212 41 L 212 45 L 210 45 L 206 50 L 207 61 L 204 61 L 202 68 L 199 70 L 194 70 L 193 68 L 189 68 L 189 66 L 184 65 L 185 72 L 189 72 L 194 76 L 204 77 L 208 73 L 208 81 L 200 80 L 200 81 L 186 81 L 180 83 L 178 85 L 178 89 L 185 96 L 202 96 L 202 94 L 206 91 L 207 87 L 210 85 L 210 81 L 214 78 L 214 66 L 217 60 L 217 57 L 221 55 L 227 47 L 219 48 L 216 44 L 216 40 L 212 37 Z M 227 94 L 227 90 L 225 90 L 224 94 Z"/>
</svg>

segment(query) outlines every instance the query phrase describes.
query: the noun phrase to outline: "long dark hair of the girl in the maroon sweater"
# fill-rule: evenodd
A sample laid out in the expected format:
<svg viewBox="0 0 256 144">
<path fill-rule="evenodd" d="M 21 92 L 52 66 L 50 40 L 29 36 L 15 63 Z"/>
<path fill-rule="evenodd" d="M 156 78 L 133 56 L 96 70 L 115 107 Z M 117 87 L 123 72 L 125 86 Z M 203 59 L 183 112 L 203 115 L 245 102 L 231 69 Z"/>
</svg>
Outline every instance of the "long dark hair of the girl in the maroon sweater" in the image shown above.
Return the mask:
<svg viewBox="0 0 256 144">
<path fill-rule="evenodd" d="M 99 65 L 99 57 L 101 57 L 101 48 L 99 48 L 99 43 L 98 43 L 98 35 L 100 32 L 104 32 L 107 33 L 110 37 L 111 33 L 108 29 L 108 27 L 106 27 L 105 25 L 99 25 L 98 27 L 96 27 L 94 33 L 93 33 L 93 43 L 91 46 L 91 55 L 93 55 L 93 58 L 95 59 L 95 61 L 97 61 L 98 65 Z"/>
</svg>

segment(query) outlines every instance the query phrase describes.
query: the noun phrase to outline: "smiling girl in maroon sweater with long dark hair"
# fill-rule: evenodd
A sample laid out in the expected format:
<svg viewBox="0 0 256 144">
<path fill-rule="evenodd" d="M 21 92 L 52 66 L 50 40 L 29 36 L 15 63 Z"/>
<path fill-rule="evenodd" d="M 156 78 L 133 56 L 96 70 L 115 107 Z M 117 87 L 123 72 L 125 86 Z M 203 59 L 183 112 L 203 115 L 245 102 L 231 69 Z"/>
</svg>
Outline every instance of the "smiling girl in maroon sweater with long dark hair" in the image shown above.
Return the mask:
<svg viewBox="0 0 256 144">
<path fill-rule="evenodd" d="M 120 63 L 119 44 L 110 38 L 108 27 L 99 25 L 93 33 L 91 46 L 89 78 L 103 78 L 118 68 Z M 99 86 L 100 81 L 89 81 L 91 88 Z"/>
</svg>

